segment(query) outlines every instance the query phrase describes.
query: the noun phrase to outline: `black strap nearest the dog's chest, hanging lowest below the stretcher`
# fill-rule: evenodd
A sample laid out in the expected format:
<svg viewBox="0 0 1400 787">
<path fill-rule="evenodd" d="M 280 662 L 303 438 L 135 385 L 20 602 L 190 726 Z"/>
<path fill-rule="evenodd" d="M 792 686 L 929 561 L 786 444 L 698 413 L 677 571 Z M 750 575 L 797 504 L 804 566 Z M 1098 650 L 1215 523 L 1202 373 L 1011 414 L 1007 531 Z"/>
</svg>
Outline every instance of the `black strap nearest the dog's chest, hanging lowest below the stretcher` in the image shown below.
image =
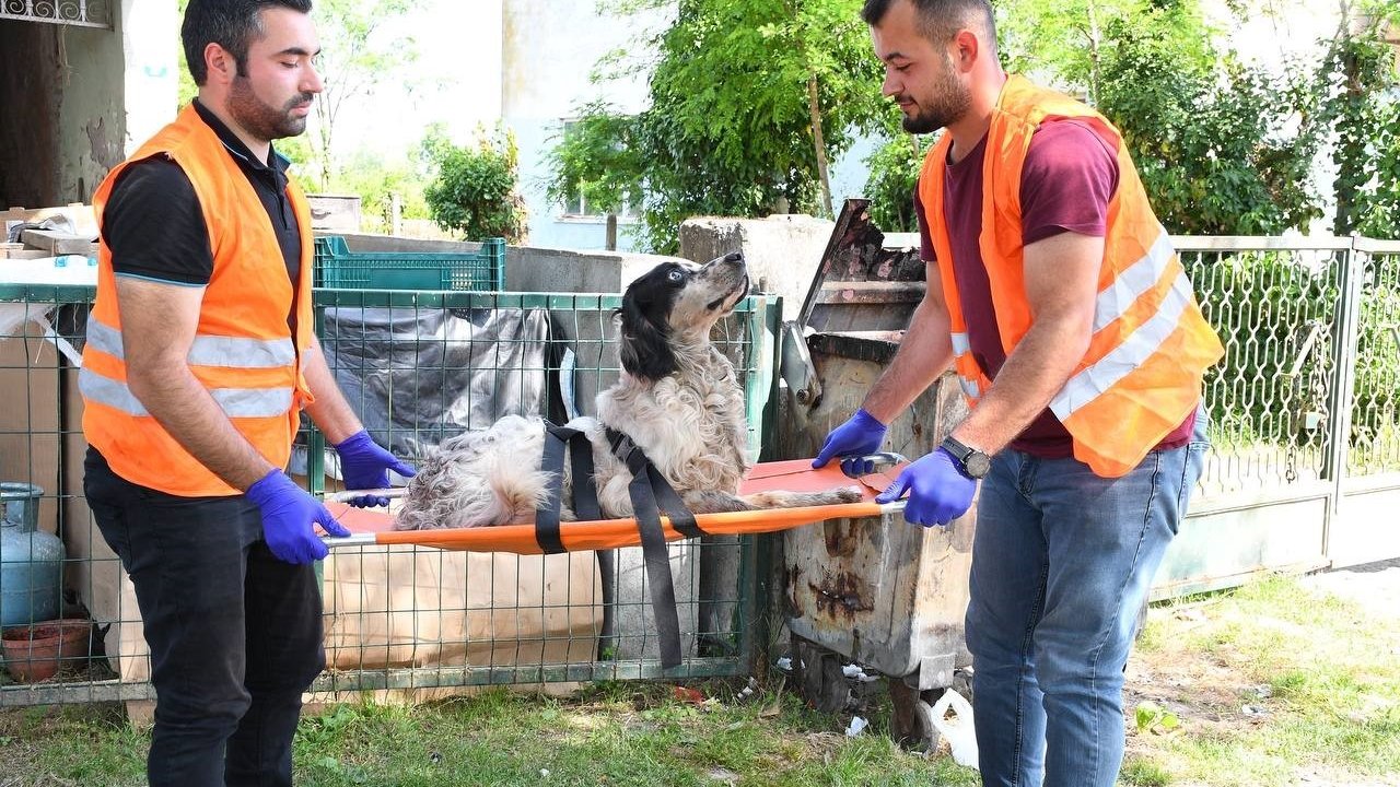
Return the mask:
<svg viewBox="0 0 1400 787">
<path fill-rule="evenodd" d="M 664 668 L 680 665 L 680 616 L 676 612 L 676 588 L 671 576 L 671 555 L 666 550 L 666 534 L 661 527 L 661 511 L 671 517 L 671 525 L 680 534 L 694 538 L 704 531 L 696 524 L 694 515 L 675 489 L 651 464 L 647 454 L 630 437 L 608 430 L 608 443 L 613 454 L 627 464 L 631 483 L 627 496 L 637 518 L 637 534 L 641 536 L 641 557 L 647 566 L 647 584 L 651 585 L 651 615 L 657 620 L 657 639 L 661 647 Z"/>
</svg>

